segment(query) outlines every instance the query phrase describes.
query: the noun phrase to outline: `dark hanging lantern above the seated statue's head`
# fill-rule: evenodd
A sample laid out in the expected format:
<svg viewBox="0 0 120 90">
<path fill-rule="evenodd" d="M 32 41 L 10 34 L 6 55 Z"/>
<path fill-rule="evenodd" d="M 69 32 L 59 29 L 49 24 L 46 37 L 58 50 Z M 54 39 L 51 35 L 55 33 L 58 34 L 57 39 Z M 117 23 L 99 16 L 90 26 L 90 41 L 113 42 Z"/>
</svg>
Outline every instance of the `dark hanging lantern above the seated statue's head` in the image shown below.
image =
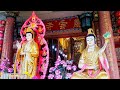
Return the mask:
<svg viewBox="0 0 120 90">
<path fill-rule="evenodd" d="M 81 21 L 81 28 L 82 31 L 87 31 L 87 29 L 92 28 L 92 13 L 83 13 L 82 15 L 79 16 L 79 19 Z"/>
</svg>

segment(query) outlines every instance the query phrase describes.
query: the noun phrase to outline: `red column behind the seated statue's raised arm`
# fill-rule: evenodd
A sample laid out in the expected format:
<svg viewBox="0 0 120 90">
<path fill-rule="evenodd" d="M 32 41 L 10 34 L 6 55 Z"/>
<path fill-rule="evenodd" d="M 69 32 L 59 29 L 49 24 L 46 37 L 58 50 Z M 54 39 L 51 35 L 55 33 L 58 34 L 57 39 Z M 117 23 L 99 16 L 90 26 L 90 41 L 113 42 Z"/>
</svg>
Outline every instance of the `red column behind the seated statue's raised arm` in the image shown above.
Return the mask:
<svg viewBox="0 0 120 90">
<path fill-rule="evenodd" d="M 103 34 L 106 32 L 111 33 L 110 42 L 106 48 L 106 55 L 110 65 L 110 77 L 111 79 L 119 78 L 119 70 L 115 52 L 114 38 L 113 38 L 113 30 L 111 25 L 111 18 L 109 11 L 99 11 L 99 24 L 100 24 L 100 33 L 102 38 L 102 45 L 104 44 Z"/>
</svg>

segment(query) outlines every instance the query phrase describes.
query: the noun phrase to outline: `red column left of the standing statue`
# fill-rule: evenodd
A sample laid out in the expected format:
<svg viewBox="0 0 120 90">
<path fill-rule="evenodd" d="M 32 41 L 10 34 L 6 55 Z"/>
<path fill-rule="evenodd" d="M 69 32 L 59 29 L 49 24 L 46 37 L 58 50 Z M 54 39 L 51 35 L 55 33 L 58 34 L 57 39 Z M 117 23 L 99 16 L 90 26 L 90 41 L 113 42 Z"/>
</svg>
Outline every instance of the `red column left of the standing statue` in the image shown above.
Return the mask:
<svg viewBox="0 0 120 90">
<path fill-rule="evenodd" d="M 14 31 L 15 18 L 8 16 L 6 18 L 6 26 L 4 32 L 2 59 L 8 58 L 12 64 L 13 62 L 13 31 Z"/>
</svg>

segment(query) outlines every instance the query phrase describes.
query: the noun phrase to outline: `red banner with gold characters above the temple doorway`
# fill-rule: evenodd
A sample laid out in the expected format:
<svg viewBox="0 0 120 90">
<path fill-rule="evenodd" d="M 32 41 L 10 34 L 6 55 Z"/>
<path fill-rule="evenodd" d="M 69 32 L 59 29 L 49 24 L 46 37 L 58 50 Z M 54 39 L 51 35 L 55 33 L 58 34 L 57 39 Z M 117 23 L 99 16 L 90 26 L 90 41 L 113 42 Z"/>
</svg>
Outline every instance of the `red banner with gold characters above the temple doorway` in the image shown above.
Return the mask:
<svg viewBox="0 0 120 90">
<path fill-rule="evenodd" d="M 80 21 L 78 17 L 60 19 L 60 20 L 49 20 L 43 21 L 46 30 L 65 30 L 72 28 L 80 28 Z"/>
</svg>

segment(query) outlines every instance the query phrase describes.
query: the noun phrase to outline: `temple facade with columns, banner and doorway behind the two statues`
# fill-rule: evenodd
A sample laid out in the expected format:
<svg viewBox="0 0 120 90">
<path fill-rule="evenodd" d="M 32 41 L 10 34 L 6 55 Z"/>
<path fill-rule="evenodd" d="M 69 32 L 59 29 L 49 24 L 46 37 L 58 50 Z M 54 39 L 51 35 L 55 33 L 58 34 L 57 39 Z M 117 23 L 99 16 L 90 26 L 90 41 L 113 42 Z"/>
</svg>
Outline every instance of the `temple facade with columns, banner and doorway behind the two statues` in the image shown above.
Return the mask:
<svg viewBox="0 0 120 90">
<path fill-rule="evenodd" d="M 77 65 L 86 47 L 87 29 L 93 28 L 99 47 L 104 44 L 103 34 L 111 33 L 105 54 L 110 66 L 110 78 L 120 78 L 120 11 L 43 11 L 44 13 L 41 12 L 41 14 L 40 11 L 36 12 L 46 27 L 45 39 L 50 52 L 49 67 L 54 65 L 58 56 L 62 60 L 73 60 Z M 17 51 L 16 41 L 21 39 L 20 29 L 29 13 L 26 11 L 1 12 L 1 61 L 8 58 L 11 65 L 14 63 Z"/>
</svg>

